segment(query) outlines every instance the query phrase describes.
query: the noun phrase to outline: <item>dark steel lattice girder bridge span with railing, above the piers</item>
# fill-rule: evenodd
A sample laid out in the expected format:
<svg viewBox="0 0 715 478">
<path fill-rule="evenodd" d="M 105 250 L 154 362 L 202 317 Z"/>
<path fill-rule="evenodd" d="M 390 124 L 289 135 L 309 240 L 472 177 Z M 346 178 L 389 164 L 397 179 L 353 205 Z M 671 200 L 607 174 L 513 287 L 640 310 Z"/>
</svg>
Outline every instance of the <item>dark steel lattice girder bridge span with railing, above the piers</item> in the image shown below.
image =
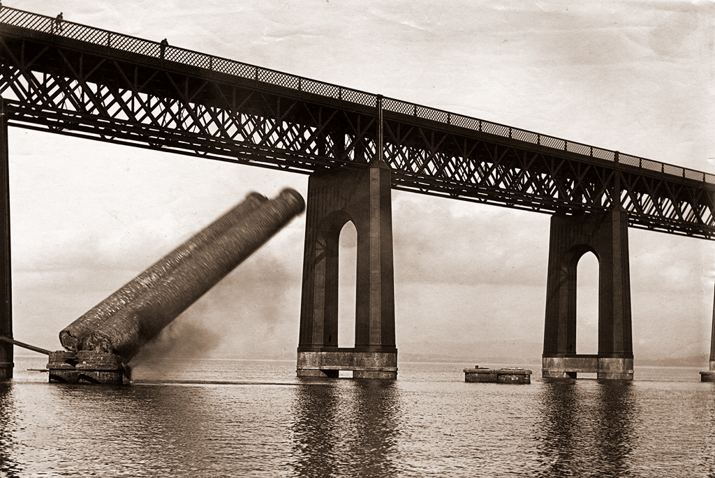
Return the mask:
<svg viewBox="0 0 715 478">
<path fill-rule="evenodd" d="M 11 126 L 715 239 L 715 174 L 6 7 L 0 63 Z"/>
</svg>

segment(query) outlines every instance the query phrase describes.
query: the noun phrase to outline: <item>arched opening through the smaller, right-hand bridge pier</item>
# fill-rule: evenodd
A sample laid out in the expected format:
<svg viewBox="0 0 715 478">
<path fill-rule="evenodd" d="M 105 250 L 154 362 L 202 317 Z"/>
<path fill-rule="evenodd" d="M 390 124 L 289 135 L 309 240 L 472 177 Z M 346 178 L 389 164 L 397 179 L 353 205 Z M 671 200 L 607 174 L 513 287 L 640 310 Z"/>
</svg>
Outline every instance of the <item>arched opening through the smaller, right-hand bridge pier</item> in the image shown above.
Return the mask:
<svg viewBox="0 0 715 478">
<path fill-rule="evenodd" d="M 576 353 L 598 354 L 598 258 L 586 252 L 576 267 Z"/>
</svg>

